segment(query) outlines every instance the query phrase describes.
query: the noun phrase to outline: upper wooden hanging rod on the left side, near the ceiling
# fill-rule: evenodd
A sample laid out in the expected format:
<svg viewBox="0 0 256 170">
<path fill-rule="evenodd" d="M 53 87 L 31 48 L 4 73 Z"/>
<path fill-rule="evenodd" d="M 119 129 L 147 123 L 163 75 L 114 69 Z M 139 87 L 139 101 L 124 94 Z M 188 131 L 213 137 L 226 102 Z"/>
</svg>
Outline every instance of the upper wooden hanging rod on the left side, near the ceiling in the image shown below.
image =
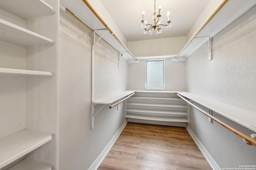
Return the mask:
<svg viewBox="0 0 256 170">
<path fill-rule="evenodd" d="M 116 40 L 126 49 L 126 51 L 134 58 L 134 60 L 137 60 L 132 53 L 128 50 L 128 48 L 124 45 L 124 43 L 118 38 L 118 36 L 114 33 L 114 31 L 108 26 L 108 24 L 101 18 L 101 16 L 94 10 L 92 5 L 88 2 L 88 0 L 83 0 L 83 2 L 88 6 L 88 8 L 92 11 L 92 13 L 100 20 L 100 22 L 108 29 L 108 31 L 116 38 Z"/>
</svg>

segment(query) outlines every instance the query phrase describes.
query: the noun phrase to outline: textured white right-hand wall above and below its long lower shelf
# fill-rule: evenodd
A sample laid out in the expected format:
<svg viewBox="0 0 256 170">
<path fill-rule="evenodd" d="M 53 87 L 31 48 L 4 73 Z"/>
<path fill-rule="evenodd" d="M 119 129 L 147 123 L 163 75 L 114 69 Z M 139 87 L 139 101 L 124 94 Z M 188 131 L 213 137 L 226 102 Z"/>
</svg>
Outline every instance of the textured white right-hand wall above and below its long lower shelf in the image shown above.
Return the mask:
<svg viewBox="0 0 256 170">
<path fill-rule="evenodd" d="M 256 114 L 256 7 L 213 38 L 213 60 L 202 46 L 187 58 L 187 90 Z M 243 113 L 241 113 L 242 116 Z M 214 113 L 224 122 L 250 135 L 252 132 Z M 250 119 L 250 117 L 248 117 Z M 255 165 L 256 147 L 218 123 L 190 109 L 189 127 L 220 168 Z"/>
</svg>

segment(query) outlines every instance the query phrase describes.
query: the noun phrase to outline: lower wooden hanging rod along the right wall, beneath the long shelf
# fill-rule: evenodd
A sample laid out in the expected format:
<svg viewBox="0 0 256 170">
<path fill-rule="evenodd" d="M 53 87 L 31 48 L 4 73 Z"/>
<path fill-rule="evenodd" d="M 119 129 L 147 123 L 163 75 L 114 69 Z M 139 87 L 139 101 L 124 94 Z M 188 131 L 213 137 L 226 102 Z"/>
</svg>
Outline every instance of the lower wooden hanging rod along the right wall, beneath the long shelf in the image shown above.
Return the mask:
<svg viewBox="0 0 256 170">
<path fill-rule="evenodd" d="M 204 111 L 203 109 L 201 109 L 200 107 L 197 107 L 196 105 L 192 104 L 190 101 L 188 101 L 186 98 L 184 98 L 183 96 L 181 96 L 180 94 L 176 93 L 180 98 L 182 98 L 184 101 L 186 101 L 188 104 L 190 104 L 191 106 L 195 107 L 196 109 L 198 109 L 199 111 L 201 111 L 202 113 L 204 113 L 206 116 L 210 117 L 212 120 L 216 121 L 217 123 L 219 123 L 220 125 L 226 127 L 228 130 L 232 131 L 233 133 L 235 133 L 236 135 L 242 137 L 244 140 L 248 141 L 249 143 L 251 143 L 252 145 L 256 146 L 256 140 L 250 138 L 248 135 L 242 133 L 241 131 L 238 131 L 237 129 L 235 129 L 234 127 L 224 123 L 223 121 L 221 121 L 220 119 L 217 119 L 216 117 L 210 115 L 209 113 L 207 113 L 206 111 Z"/>
</svg>

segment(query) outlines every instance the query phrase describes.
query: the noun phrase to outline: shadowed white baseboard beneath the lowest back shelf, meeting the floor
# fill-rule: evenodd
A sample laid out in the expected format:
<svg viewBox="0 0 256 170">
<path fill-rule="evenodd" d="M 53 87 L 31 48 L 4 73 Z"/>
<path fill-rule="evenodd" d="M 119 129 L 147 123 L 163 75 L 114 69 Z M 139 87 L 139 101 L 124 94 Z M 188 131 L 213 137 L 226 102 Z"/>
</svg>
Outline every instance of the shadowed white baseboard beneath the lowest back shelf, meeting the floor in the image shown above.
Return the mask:
<svg viewBox="0 0 256 170">
<path fill-rule="evenodd" d="M 127 120 L 128 122 L 133 122 L 133 123 L 146 123 L 146 124 L 153 124 L 153 125 L 186 127 L 186 123 L 184 122 L 150 121 L 150 120 L 133 119 L 133 118 L 128 118 Z"/>
</svg>

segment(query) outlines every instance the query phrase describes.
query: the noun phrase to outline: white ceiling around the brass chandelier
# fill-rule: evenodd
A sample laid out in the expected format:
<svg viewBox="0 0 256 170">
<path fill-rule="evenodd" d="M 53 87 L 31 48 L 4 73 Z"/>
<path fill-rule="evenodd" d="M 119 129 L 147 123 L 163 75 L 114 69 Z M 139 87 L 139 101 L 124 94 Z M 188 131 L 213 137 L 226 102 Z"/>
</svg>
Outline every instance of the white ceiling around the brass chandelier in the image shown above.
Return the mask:
<svg viewBox="0 0 256 170">
<path fill-rule="evenodd" d="M 100 0 L 116 22 L 127 41 L 186 36 L 210 0 L 156 0 L 156 12 L 162 6 L 162 24 L 170 12 L 172 27 L 162 27 L 162 33 L 144 35 L 141 27 L 142 11 L 147 23 L 153 24 L 154 0 Z"/>
</svg>

